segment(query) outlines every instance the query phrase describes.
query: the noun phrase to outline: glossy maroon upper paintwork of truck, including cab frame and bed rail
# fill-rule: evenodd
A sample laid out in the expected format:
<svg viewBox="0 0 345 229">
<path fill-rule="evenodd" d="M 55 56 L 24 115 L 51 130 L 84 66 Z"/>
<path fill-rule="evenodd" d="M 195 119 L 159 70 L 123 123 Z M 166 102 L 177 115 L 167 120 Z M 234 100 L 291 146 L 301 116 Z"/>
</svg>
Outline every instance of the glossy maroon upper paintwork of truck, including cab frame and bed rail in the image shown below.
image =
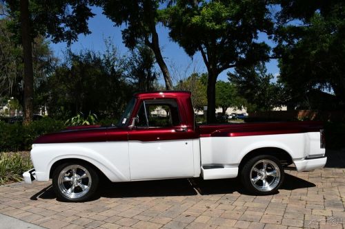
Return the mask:
<svg viewBox="0 0 345 229">
<path fill-rule="evenodd" d="M 99 125 L 68 127 L 59 133 L 43 135 L 34 141 L 41 143 L 63 142 L 105 142 L 105 141 L 157 141 L 179 140 L 205 137 L 239 137 L 250 135 L 272 135 L 286 133 L 318 132 L 322 129 L 320 122 L 270 122 L 270 123 L 244 123 L 201 125 L 195 127 L 194 112 L 188 91 L 164 91 L 135 94 L 137 102 L 130 116 L 130 122 L 135 117 L 141 102 L 145 99 L 173 98 L 177 100 L 181 116 L 181 126 L 168 128 L 134 128 L 128 127 L 100 127 Z M 187 131 L 181 131 L 186 127 Z"/>
</svg>

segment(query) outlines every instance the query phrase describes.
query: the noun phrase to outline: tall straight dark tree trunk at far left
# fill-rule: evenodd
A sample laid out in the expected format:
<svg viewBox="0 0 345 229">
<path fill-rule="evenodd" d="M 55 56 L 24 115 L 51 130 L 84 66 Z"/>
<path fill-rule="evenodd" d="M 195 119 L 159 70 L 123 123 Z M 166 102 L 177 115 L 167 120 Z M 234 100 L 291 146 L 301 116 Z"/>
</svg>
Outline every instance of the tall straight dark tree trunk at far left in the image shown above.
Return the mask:
<svg viewBox="0 0 345 229">
<path fill-rule="evenodd" d="M 28 0 L 20 1 L 21 12 L 21 40 L 23 45 L 24 60 L 24 118 L 23 124 L 29 124 L 33 116 L 33 100 L 34 100 L 34 74 L 32 70 L 32 47 L 30 36 L 29 22 L 29 2 Z"/>
</svg>

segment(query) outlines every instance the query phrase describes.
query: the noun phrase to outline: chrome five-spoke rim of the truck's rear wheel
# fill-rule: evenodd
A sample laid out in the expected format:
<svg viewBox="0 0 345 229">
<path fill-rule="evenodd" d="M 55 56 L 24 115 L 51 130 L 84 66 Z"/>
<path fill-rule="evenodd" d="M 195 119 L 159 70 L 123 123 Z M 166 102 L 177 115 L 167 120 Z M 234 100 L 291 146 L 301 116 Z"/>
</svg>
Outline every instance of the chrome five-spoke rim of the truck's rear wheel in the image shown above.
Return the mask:
<svg viewBox="0 0 345 229">
<path fill-rule="evenodd" d="M 257 190 L 267 192 L 278 186 L 281 174 L 279 166 L 271 160 L 259 160 L 250 169 L 250 182 Z"/>
</svg>

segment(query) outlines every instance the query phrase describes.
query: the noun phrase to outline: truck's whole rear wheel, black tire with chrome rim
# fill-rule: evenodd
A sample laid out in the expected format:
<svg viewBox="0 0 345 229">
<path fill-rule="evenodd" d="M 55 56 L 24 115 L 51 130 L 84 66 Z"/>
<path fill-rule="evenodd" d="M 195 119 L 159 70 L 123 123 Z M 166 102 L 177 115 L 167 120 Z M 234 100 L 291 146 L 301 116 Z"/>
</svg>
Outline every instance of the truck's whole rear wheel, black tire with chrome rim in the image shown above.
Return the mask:
<svg viewBox="0 0 345 229">
<path fill-rule="evenodd" d="M 270 195 L 276 193 L 282 185 L 284 168 L 276 157 L 258 155 L 244 164 L 240 178 L 242 184 L 250 193 Z"/>
</svg>

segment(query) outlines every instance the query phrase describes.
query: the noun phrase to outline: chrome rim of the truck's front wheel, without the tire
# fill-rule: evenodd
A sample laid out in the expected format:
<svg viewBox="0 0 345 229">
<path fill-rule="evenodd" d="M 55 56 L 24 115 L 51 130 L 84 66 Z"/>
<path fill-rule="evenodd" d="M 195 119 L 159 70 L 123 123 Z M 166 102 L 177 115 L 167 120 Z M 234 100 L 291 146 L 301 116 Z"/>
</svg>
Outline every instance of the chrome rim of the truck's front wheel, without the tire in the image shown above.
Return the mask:
<svg viewBox="0 0 345 229">
<path fill-rule="evenodd" d="M 83 166 L 72 164 L 63 168 L 59 173 L 58 188 L 62 195 L 70 199 L 86 195 L 91 184 L 91 175 Z"/>
</svg>

